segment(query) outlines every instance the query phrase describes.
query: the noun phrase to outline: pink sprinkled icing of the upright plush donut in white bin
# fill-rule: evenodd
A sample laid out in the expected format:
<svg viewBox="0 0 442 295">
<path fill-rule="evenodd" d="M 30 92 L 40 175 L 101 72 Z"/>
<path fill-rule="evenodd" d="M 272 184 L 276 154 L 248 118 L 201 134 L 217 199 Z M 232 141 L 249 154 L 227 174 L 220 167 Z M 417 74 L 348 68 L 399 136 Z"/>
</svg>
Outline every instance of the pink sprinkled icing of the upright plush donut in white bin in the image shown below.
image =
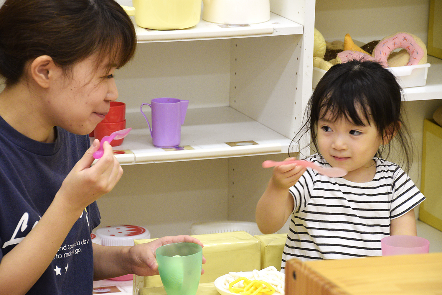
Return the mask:
<svg viewBox="0 0 442 295">
<path fill-rule="evenodd" d="M 406 65 L 422 65 L 427 62 L 427 47 L 422 40 L 410 33 L 400 32 L 383 38 L 373 50 L 376 61 L 389 67 L 388 57 L 393 50 L 403 48 L 410 54 Z"/>
</svg>

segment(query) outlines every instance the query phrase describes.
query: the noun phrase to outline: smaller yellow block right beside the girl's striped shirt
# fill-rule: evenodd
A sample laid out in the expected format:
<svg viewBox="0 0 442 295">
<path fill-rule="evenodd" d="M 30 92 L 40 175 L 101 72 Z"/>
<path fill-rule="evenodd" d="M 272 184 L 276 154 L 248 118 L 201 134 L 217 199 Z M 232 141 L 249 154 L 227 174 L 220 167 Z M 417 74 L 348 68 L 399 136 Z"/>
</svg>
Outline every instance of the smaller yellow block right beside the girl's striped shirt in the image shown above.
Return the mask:
<svg viewBox="0 0 442 295">
<path fill-rule="evenodd" d="M 287 234 L 262 234 L 255 238 L 261 241 L 261 269 L 274 266 L 281 270 L 282 251 L 286 245 Z"/>
</svg>

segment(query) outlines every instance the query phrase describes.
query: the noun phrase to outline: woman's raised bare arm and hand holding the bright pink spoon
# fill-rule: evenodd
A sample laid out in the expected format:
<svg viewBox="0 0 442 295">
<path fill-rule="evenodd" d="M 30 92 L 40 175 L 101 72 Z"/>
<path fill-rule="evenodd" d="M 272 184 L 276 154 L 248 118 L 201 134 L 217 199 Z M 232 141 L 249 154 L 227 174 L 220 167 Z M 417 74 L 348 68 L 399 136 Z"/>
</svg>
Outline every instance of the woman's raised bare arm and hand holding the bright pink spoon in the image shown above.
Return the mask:
<svg viewBox="0 0 442 295">
<path fill-rule="evenodd" d="M 66 176 L 34 228 L 1 259 L 0 294 L 26 294 L 48 268 L 84 208 L 109 192 L 120 179 L 122 169 L 109 144 L 104 145 L 100 161 L 91 167 L 92 153 L 99 148 L 97 142 Z"/>
</svg>

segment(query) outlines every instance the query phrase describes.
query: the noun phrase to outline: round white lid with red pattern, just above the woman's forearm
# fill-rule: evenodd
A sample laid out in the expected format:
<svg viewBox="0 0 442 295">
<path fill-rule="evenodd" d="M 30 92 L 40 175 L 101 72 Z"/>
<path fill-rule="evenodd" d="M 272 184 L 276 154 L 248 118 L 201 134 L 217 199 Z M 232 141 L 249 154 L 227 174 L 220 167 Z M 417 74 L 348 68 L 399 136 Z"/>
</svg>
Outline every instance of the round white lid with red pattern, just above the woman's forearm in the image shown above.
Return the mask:
<svg viewBox="0 0 442 295">
<path fill-rule="evenodd" d="M 149 230 L 127 224 L 102 227 L 96 230 L 96 234 L 104 246 L 133 246 L 134 239 L 150 238 Z"/>
</svg>

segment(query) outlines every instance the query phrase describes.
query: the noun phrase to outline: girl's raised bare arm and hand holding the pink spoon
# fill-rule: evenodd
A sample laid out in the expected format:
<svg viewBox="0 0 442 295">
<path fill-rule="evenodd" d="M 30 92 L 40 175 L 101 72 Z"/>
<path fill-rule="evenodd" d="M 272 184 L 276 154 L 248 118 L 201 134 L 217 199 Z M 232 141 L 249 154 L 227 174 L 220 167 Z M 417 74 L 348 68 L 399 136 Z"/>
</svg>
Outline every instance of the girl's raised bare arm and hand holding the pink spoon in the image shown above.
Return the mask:
<svg viewBox="0 0 442 295">
<path fill-rule="evenodd" d="M 290 160 L 289 158 L 286 160 Z M 263 234 L 277 232 L 286 223 L 294 209 L 289 188 L 297 183 L 305 167 L 296 164 L 281 165 L 273 169 L 267 189 L 256 205 L 255 218 Z"/>
</svg>

